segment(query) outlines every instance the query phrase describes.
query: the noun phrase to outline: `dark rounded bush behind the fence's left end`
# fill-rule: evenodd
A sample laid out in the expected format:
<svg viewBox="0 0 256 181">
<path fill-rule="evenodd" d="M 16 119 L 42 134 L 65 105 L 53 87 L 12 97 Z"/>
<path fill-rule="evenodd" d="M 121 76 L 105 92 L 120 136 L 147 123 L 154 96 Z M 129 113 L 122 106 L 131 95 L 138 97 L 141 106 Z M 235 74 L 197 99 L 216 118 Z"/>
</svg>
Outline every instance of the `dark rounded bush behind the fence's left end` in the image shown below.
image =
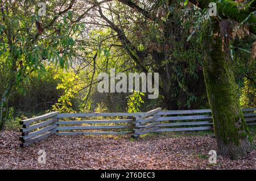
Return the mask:
<svg viewBox="0 0 256 181">
<path fill-rule="evenodd" d="M 22 89 L 16 91 L 10 98 L 9 107 L 22 112 L 44 112 L 52 108 L 57 99 L 63 94 L 63 90 L 57 90 L 60 83 L 55 79 L 57 74 L 54 66 L 46 66 L 46 71 L 39 76 L 31 75 L 28 82 L 23 82 Z"/>
</svg>

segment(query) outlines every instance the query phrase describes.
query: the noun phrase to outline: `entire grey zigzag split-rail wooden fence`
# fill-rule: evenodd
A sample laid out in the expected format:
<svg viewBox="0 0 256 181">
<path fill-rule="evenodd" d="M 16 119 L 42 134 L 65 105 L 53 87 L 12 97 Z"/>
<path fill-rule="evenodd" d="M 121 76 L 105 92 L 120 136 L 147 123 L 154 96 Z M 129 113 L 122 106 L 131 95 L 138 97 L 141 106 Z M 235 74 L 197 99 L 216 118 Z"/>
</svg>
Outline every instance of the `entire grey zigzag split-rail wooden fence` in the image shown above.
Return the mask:
<svg viewBox="0 0 256 181">
<path fill-rule="evenodd" d="M 256 108 L 243 109 L 247 125 L 256 125 Z M 213 129 L 210 110 L 163 111 L 156 108 L 139 113 L 59 113 L 20 121 L 20 147 L 57 135 L 131 134 L 201 131 Z"/>
</svg>

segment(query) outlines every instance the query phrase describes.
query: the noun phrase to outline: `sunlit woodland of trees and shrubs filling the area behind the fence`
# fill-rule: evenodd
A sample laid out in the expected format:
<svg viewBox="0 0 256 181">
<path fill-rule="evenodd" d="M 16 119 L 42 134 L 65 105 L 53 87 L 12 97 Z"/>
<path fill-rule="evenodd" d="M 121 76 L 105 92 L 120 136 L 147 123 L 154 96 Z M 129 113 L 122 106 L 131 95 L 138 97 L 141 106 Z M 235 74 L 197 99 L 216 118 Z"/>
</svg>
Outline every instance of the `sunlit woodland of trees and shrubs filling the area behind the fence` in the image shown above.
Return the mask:
<svg viewBox="0 0 256 181">
<path fill-rule="evenodd" d="M 209 108 L 202 68 L 208 47 L 200 40 L 206 16 L 188 1 L 46 1 L 46 16 L 36 14 L 40 1 L 6 2 L 1 1 L 0 15 L 1 97 L 10 78 L 15 79 L 6 106 L 7 127 L 47 111 Z M 20 57 L 15 71 L 7 58 L 5 23 L 13 28 L 9 36 Z M 236 22 L 232 28 L 229 53 L 237 94 L 242 107 L 255 107 L 255 35 Z M 97 74 L 110 68 L 159 72 L 159 98 L 98 93 Z"/>
</svg>

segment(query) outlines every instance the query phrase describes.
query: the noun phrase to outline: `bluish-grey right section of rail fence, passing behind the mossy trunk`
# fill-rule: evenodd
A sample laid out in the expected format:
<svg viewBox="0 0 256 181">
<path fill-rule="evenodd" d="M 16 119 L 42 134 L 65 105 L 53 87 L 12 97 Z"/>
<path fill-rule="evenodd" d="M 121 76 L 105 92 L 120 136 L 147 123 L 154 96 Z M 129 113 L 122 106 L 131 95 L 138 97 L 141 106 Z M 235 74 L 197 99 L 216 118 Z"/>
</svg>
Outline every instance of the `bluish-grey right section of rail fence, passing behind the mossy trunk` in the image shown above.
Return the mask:
<svg viewBox="0 0 256 181">
<path fill-rule="evenodd" d="M 256 108 L 242 109 L 247 125 L 256 125 Z M 136 116 L 133 135 L 153 132 L 201 131 L 213 129 L 211 110 L 162 111 L 156 108 L 146 115 Z"/>
</svg>

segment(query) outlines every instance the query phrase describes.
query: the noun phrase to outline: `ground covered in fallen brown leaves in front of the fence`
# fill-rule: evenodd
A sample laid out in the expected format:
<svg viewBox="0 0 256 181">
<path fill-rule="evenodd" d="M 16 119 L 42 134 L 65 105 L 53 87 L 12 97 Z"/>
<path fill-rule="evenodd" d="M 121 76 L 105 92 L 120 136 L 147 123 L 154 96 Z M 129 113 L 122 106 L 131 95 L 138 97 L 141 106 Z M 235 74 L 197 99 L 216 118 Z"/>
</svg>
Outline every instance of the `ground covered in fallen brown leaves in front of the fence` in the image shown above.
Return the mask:
<svg viewBox="0 0 256 181">
<path fill-rule="evenodd" d="M 209 164 L 216 150 L 210 134 L 154 135 L 133 140 L 127 136 L 51 136 L 19 148 L 20 133 L 0 132 L 0 169 L 256 169 L 256 151 L 232 161 L 221 156 Z M 46 164 L 38 151 L 46 151 Z"/>
</svg>

